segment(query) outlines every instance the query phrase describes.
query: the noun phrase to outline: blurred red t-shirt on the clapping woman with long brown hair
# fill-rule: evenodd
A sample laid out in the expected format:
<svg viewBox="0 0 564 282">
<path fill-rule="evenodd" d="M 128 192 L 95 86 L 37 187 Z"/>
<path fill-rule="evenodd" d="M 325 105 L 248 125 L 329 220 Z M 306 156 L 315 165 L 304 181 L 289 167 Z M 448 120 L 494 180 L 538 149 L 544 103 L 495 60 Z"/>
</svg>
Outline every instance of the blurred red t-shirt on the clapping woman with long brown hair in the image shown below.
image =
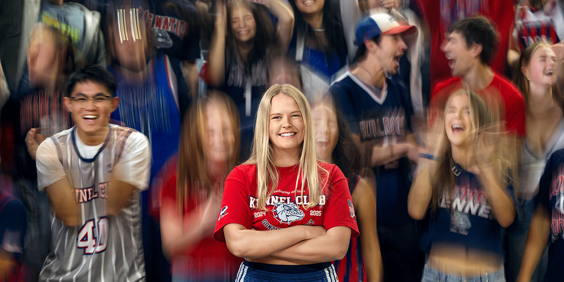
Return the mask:
<svg viewBox="0 0 564 282">
<path fill-rule="evenodd" d="M 171 205 L 178 210 L 176 185 L 177 177 L 173 173 L 162 188 L 162 205 Z M 184 215 L 196 208 L 193 201 L 188 203 Z M 207 237 L 192 252 L 172 258 L 170 264 L 174 277 L 190 281 L 234 281 L 241 262 L 243 259 L 231 254 L 225 243 Z"/>
</svg>

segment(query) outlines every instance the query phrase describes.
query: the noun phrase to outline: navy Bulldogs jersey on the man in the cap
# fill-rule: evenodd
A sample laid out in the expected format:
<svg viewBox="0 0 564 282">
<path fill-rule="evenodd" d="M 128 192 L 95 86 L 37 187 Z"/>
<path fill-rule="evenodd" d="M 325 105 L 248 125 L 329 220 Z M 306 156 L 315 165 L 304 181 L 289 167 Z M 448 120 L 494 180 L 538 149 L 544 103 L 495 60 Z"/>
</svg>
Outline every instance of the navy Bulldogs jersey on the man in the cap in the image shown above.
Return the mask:
<svg viewBox="0 0 564 282">
<path fill-rule="evenodd" d="M 387 147 L 404 142 L 411 133 L 413 108 L 403 83 L 386 78 L 382 89 L 372 89 L 347 72 L 329 92 L 350 127 L 367 145 Z M 373 168 L 376 175 L 378 224 L 405 222 L 407 194 L 411 187 L 409 160 L 400 158 Z"/>
</svg>

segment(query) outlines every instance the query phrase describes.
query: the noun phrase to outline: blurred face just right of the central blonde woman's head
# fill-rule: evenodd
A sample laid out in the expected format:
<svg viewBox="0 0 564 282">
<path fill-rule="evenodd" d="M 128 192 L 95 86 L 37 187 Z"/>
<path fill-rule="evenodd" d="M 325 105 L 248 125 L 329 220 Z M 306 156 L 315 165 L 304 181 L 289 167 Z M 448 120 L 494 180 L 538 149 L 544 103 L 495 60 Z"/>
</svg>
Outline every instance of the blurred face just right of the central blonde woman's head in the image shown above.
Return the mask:
<svg viewBox="0 0 564 282">
<path fill-rule="evenodd" d="M 320 104 L 311 111 L 315 127 L 315 148 L 318 157 L 332 162 L 332 155 L 339 139 L 337 114 L 328 105 Z"/>
</svg>

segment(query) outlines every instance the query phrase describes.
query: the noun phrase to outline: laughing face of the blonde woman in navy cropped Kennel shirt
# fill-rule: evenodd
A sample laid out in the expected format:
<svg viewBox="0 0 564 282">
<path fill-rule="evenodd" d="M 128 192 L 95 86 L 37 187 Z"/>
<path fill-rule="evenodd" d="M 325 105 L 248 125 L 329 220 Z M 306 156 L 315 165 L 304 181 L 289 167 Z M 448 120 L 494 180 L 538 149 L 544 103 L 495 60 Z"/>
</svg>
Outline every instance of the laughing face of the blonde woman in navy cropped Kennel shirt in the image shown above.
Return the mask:
<svg viewBox="0 0 564 282">
<path fill-rule="evenodd" d="M 453 95 L 444 109 L 444 130 L 451 147 L 467 149 L 473 138 L 469 98 L 464 93 Z"/>
</svg>

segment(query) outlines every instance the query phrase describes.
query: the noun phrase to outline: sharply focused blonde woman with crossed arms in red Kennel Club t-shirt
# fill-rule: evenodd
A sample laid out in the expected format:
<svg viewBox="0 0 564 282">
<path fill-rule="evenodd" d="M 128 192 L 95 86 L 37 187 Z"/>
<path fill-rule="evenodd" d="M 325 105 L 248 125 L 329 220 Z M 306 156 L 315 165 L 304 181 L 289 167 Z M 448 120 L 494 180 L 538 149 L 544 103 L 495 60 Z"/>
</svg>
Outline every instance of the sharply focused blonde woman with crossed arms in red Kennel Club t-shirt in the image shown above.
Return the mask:
<svg viewBox="0 0 564 282">
<path fill-rule="evenodd" d="M 225 182 L 214 237 L 245 258 L 237 281 L 336 281 L 331 261 L 358 236 L 345 175 L 316 158 L 305 96 L 273 85 L 257 111 L 253 152 Z"/>
</svg>

